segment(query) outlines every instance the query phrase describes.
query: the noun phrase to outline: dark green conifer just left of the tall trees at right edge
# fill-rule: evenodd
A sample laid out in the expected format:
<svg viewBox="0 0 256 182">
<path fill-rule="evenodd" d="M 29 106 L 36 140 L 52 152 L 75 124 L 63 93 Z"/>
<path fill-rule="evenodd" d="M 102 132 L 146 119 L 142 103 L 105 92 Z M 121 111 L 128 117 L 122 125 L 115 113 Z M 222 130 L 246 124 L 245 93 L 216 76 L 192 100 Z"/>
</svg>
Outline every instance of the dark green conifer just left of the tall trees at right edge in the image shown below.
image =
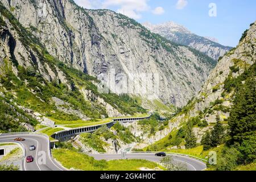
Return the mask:
<svg viewBox="0 0 256 182">
<path fill-rule="evenodd" d="M 210 132 L 210 140 L 212 147 L 217 147 L 224 142 L 225 129 L 220 121 L 214 125 L 213 130 Z"/>
</svg>

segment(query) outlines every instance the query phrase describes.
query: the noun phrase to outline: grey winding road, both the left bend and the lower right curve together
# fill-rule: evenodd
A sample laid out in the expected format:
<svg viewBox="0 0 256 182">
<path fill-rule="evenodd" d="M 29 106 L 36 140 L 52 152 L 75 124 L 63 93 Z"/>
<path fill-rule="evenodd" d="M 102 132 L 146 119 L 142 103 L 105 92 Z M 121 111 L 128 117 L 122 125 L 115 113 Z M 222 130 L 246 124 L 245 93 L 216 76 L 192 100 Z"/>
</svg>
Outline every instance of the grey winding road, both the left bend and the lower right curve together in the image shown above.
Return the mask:
<svg viewBox="0 0 256 182">
<path fill-rule="evenodd" d="M 21 137 L 25 140 L 22 142 L 14 141 L 14 138 Z M 49 138 L 40 134 L 0 134 L 0 143 L 19 143 L 24 152 L 23 170 L 24 171 L 65 171 L 64 167 L 60 166 L 51 157 L 51 150 L 49 148 Z M 34 145 L 36 149 L 30 151 L 29 147 Z M 32 155 L 34 162 L 26 163 L 25 156 Z M 115 160 L 122 159 L 121 154 L 88 154 L 93 156 L 96 160 Z M 206 168 L 206 165 L 200 160 L 189 158 L 188 156 L 172 155 L 175 164 L 183 164 L 189 171 L 201 171 Z M 127 159 L 145 159 L 152 162 L 160 162 L 161 157 L 150 153 L 131 153 L 126 155 Z"/>
</svg>

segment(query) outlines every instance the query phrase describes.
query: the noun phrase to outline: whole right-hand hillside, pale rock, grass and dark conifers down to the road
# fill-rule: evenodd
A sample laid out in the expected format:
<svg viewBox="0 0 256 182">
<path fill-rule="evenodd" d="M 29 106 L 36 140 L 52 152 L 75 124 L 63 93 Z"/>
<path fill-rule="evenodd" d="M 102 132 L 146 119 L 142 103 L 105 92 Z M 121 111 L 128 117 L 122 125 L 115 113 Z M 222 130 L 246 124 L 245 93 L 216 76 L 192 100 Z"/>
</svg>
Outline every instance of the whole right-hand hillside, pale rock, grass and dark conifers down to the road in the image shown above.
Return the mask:
<svg viewBox="0 0 256 182">
<path fill-rule="evenodd" d="M 216 151 L 217 164 L 209 169 L 255 168 L 255 28 L 252 23 L 237 48 L 219 60 L 198 96 L 171 119 L 180 122 L 179 128 L 144 151 L 180 152 L 204 159 L 209 151 Z"/>
</svg>

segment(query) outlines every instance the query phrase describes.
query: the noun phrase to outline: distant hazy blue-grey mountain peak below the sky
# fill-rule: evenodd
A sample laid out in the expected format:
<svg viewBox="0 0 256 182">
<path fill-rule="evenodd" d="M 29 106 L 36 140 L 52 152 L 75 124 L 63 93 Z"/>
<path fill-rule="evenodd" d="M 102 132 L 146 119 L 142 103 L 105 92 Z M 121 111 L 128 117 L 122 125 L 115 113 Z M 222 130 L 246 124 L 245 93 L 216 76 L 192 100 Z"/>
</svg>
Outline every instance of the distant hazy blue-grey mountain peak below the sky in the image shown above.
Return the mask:
<svg viewBox="0 0 256 182">
<path fill-rule="evenodd" d="M 164 38 L 172 42 L 195 48 L 209 57 L 212 57 L 214 60 L 218 60 L 219 57 L 232 49 L 232 47 L 222 46 L 217 43 L 215 38 L 204 38 L 193 34 L 184 26 L 174 22 L 166 22 L 163 24 L 151 24 L 147 22 L 144 23 L 143 26 L 155 34 L 164 36 Z"/>
</svg>

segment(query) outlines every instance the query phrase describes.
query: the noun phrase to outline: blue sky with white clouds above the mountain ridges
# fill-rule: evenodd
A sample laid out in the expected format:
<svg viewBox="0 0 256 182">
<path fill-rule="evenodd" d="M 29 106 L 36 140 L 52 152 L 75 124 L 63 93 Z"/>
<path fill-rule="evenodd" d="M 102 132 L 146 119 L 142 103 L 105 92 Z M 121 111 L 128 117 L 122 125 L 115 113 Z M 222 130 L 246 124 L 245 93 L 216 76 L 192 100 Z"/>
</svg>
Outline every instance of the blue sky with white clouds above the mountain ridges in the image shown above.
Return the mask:
<svg viewBox="0 0 256 182">
<path fill-rule="evenodd" d="M 254 0 L 75 0 L 86 9 L 110 9 L 139 23 L 173 21 L 200 36 L 236 47 L 256 20 Z"/>
</svg>

